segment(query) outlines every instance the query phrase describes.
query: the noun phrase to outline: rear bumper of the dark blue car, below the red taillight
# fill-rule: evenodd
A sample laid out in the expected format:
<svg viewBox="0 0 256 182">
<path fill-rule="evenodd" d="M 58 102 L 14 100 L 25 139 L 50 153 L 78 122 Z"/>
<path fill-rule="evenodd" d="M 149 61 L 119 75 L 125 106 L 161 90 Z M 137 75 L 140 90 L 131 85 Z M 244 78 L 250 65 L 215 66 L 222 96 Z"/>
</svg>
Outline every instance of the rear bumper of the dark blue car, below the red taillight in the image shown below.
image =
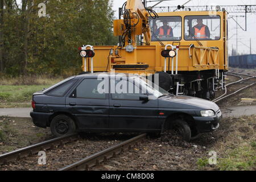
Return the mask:
<svg viewBox="0 0 256 182">
<path fill-rule="evenodd" d="M 35 126 L 46 128 L 52 113 L 38 113 L 31 111 L 30 116 Z"/>
</svg>

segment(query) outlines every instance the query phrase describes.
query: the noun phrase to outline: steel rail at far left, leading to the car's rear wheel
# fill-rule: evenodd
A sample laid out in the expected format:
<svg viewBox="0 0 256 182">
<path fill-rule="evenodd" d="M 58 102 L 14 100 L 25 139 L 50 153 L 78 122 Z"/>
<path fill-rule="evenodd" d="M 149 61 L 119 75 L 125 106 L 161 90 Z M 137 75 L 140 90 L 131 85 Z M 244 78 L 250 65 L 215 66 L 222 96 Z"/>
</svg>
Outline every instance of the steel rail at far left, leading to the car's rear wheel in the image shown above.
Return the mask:
<svg viewBox="0 0 256 182">
<path fill-rule="evenodd" d="M 76 139 L 78 139 L 78 134 L 70 134 L 64 137 L 53 138 L 45 142 L 33 144 L 31 146 L 20 148 L 18 150 L 0 155 L 0 166 L 5 163 L 24 158 L 25 156 L 35 154 L 39 151 L 48 150 L 50 148 L 63 145 L 65 143 L 72 142 Z"/>
</svg>

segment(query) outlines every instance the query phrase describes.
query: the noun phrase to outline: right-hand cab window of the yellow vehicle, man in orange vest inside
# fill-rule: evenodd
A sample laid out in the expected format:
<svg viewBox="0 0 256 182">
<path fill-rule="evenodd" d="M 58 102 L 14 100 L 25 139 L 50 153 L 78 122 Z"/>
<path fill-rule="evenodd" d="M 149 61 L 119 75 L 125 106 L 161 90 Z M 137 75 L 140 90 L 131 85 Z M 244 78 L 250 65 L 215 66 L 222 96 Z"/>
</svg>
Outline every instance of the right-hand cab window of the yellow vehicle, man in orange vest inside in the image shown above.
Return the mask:
<svg viewBox="0 0 256 182">
<path fill-rule="evenodd" d="M 220 40 L 221 20 L 218 15 L 185 16 L 185 40 Z"/>
</svg>

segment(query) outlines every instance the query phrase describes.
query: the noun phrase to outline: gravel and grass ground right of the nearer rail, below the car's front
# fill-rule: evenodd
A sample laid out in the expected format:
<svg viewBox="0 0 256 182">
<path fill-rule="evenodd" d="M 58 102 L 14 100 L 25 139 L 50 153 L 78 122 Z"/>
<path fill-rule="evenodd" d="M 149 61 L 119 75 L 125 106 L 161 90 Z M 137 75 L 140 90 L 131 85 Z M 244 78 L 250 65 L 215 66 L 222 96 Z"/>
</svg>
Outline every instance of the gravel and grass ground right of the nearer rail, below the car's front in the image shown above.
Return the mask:
<svg viewBox="0 0 256 182">
<path fill-rule="evenodd" d="M 147 139 L 117 158 L 91 170 L 255 170 L 256 115 L 228 118 L 214 133 L 194 142 L 180 142 L 170 133 Z M 217 154 L 217 164 L 209 164 L 209 152 Z"/>
</svg>

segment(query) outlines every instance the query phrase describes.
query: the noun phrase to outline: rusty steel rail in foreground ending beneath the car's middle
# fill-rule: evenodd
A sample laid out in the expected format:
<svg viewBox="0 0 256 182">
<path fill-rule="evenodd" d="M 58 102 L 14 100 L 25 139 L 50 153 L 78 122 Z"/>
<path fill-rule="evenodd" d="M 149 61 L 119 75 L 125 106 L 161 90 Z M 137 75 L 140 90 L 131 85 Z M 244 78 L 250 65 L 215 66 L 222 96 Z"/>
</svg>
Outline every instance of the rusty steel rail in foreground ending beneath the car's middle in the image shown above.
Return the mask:
<svg viewBox="0 0 256 182">
<path fill-rule="evenodd" d="M 107 148 L 106 150 L 90 155 L 79 162 L 61 168 L 59 171 L 86 171 L 88 168 L 96 166 L 97 164 L 104 162 L 125 150 L 130 150 L 132 146 L 137 145 L 140 140 L 143 140 L 146 135 L 147 134 L 138 135 L 137 137 L 126 140 L 125 142 Z"/>
</svg>

